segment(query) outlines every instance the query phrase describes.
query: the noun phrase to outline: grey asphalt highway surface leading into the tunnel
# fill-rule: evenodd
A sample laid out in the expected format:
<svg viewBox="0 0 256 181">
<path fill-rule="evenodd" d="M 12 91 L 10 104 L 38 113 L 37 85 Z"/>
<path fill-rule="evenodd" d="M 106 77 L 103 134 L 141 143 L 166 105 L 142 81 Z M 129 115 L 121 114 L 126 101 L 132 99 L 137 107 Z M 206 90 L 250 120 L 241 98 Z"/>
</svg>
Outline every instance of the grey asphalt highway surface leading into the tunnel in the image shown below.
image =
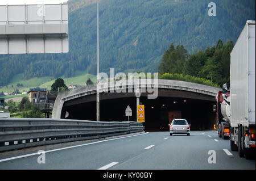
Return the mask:
<svg viewBox="0 0 256 181">
<path fill-rule="evenodd" d="M 42 155 L 34 152 L 0 158 L 0 169 L 255 170 L 255 160 L 230 151 L 229 140 L 222 140 L 215 131 L 191 132 L 191 136 L 146 132 L 45 151 L 45 163 L 39 164 Z"/>
</svg>

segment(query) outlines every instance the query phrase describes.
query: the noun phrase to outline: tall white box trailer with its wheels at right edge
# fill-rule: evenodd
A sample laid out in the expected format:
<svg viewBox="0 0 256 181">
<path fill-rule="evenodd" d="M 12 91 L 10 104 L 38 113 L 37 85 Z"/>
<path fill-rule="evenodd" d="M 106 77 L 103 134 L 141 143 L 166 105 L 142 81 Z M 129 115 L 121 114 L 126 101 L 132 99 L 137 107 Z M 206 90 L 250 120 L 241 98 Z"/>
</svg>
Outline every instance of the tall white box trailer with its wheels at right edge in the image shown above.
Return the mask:
<svg viewBox="0 0 256 181">
<path fill-rule="evenodd" d="M 255 20 L 247 20 L 230 54 L 230 148 L 255 157 Z"/>
</svg>

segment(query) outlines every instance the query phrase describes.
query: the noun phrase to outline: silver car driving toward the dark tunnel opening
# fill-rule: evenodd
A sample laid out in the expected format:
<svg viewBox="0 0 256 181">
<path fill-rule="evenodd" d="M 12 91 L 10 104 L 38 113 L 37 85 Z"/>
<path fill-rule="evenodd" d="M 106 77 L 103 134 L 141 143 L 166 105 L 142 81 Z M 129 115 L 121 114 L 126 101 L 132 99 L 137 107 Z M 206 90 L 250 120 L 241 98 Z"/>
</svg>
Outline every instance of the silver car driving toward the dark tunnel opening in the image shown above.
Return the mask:
<svg viewBox="0 0 256 181">
<path fill-rule="evenodd" d="M 170 125 L 170 136 L 172 134 L 187 134 L 190 136 L 190 126 L 185 119 L 174 119 Z"/>
</svg>

